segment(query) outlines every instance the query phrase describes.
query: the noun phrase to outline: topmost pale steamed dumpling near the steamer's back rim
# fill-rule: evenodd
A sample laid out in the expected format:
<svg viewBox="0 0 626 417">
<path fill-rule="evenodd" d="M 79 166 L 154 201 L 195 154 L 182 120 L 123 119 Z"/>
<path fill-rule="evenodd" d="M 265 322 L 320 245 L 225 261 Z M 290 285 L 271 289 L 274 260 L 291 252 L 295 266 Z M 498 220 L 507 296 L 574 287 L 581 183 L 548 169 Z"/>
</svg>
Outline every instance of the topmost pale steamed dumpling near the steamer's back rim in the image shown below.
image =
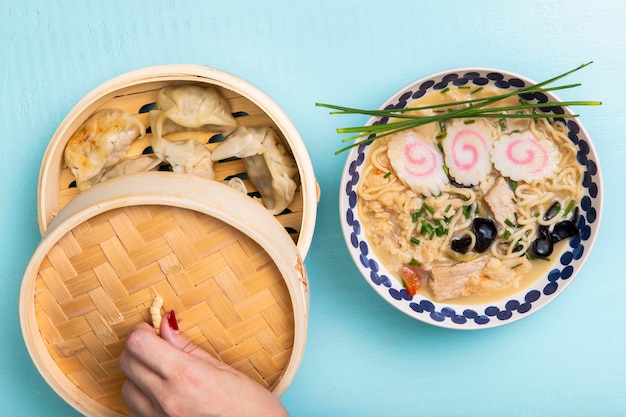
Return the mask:
<svg viewBox="0 0 626 417">
<path fill-rule="evenodd" d="M 181 130 L 229 134 L 237 127 L 228 101 L 211 86 L 162 88 L 157 94 L 156 110 L 152 112 L 158 112 L 152 125 L 153 133 L 160 135 Z"/>
</svg>

